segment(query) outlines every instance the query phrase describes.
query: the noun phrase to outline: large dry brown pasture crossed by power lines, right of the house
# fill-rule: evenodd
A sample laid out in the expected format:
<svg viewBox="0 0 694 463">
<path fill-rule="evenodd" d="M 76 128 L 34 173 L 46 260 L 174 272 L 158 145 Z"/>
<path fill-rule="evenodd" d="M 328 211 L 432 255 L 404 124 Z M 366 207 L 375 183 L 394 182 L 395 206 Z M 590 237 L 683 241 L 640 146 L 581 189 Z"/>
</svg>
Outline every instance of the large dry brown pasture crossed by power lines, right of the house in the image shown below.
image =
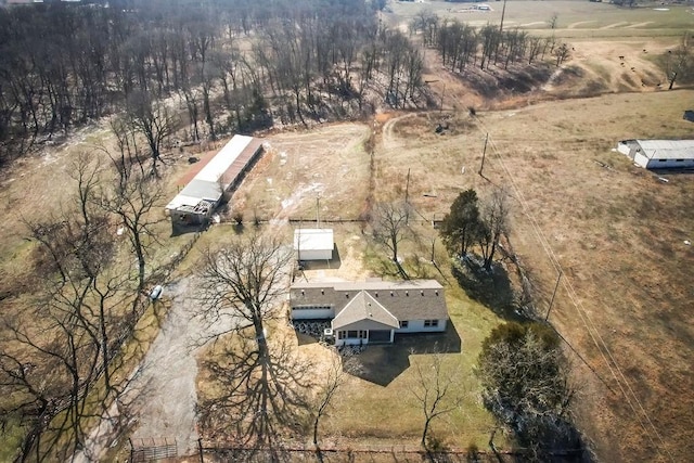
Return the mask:
<svg viewBox="0 0 694 463">
<path fill-rule="evenodd" d="M 603 461 L 683 461 L 692 451 L 694 250 L 684 241 L 694 235 L 694 178 L 659 182 L 613 149 L 627 138 L 687 137 L 683 102 L 693 97 L 611 94 L 475 120 L 444 113 L 444 136 L 434 133 L 438 115 L 404 116 L 387 127 L 378 155 L 384 183 L 413 167 L 411 197 L 427 217 L 467 188 L 511 191 L 510 241 L 540 316 L 563 272 L 550 321 L 587 360 L 575 357 L 580 422 Z M 486 133 L 485 179 L 476 171 Z M 422 195 L 430 192 L 435 200 Z"/>
</svg>

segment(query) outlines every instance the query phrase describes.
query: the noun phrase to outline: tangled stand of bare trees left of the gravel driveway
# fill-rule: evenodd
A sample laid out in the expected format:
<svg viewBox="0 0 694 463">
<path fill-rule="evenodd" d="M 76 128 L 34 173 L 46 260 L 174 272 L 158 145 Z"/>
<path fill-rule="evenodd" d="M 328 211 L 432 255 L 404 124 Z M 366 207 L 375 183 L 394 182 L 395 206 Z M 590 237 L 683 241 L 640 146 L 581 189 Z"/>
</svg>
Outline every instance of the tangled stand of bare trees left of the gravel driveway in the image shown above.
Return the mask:
<svg viewBox="0 0 694 463">
<path fill-rule="evenodd" d="M 70 197 L 25 221 L 31 294 L 0 330 L 0 425 L 22 430 L 16 461 L 68 461 L 85 446 L 88 420 L 127 386 L 118 356 L 147 307 L 160 183 L 117 156 L 82 153 L 70 172 Z"/>
</svg>

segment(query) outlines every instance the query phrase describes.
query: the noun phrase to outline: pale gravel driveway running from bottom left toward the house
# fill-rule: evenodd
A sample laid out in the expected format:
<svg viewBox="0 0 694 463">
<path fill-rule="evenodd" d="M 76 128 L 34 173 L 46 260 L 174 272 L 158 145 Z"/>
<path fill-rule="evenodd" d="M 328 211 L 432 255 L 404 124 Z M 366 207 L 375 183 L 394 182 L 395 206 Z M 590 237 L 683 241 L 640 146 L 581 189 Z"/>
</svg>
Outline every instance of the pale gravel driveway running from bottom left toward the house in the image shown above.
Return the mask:
<svg viewBox="0 0 694 463">
<path fill-rule="evenodd" d="M 195 406 L 197 393 L 195 377 L 197 362 L 195 347 L 204 336 L 227 329 L 229 321 L 216 324 L 214 331 L 194 317 L 195 281 L 183 278 L 165 286 L 164 294 L 172 300 L 159 335 L 152 344 L 143 362 L 131 374 L 132 382 L 104 413 L 86 450 L 75 455 L 74 462 L 87 463 L 103 458 L 107 446 L 117 436 L 120 412 L 125 412 L 134 432 L 131 438 L 142 440 L 176 439 L 179 454 L 190 454 L 197 439 Z"/>
</svg>

